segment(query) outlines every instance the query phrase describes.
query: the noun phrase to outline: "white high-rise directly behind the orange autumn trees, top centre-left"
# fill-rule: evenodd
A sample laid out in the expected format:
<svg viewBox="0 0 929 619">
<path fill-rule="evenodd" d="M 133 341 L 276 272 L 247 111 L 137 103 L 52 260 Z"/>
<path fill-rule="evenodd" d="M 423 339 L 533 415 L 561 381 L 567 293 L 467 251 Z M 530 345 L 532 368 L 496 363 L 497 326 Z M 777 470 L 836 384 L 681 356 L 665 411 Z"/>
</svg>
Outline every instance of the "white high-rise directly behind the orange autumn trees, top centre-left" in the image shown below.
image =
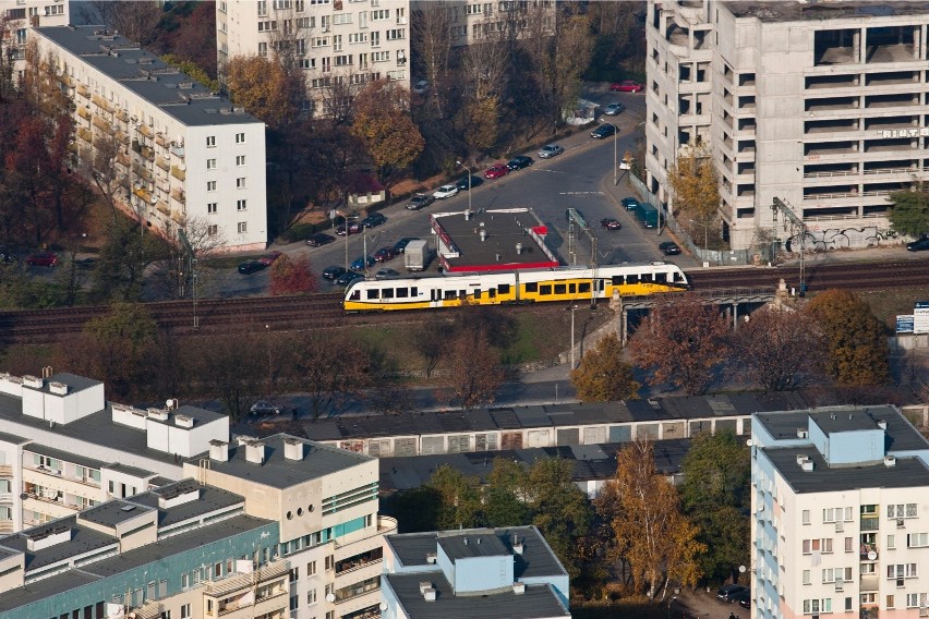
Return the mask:
<svg viewBox="0 0 929 619">
<path fill-rule="evenodd" d="M 220 80 L 237 56 L 287 50 L 305 72 L 307 100 L 326 116 L 342 87 L 376 80 L 410 85 L 409 0 L 218 0 Z"/>
</svg>

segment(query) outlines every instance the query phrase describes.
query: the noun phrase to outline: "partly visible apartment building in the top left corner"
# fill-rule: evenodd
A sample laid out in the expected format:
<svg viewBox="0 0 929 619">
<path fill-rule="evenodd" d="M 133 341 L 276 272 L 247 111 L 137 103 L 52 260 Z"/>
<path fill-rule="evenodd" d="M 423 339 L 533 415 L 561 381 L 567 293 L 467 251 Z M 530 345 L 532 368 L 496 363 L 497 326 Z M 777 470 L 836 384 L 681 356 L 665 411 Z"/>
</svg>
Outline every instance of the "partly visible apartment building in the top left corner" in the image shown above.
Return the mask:
<svg viewBox="0 0 929 619">
<path fill-rule="evenodd" d="M 0 0 L 0 52 L 13 64 L 13 80 L 26 69 L 29 28 L 67 26 L 71 23 L 71 0 Z"/>
</svg>

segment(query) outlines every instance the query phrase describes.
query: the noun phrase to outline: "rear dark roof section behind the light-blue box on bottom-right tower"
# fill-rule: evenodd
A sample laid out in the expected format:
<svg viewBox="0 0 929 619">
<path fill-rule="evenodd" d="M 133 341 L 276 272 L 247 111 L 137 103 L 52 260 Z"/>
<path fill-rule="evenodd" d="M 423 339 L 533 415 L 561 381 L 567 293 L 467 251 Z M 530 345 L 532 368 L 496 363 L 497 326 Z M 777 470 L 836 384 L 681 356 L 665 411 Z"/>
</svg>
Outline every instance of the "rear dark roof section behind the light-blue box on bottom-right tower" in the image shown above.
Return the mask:
<svg viewBox="0 0 929 619">
<path fill-rule="evenodd" d="M 835 420 L 832 420 L 832 415 Z M 849 418 L 850 415 L 850 418 Z M 797 439 L 798 429 L 807 429 L 812 417 L 823 430 L 877 429 L 886 422 L 885 446 L 889 452 L 929 449 L 929 441 L 893 406 L 827 406 L 803 411 L 761 413 L 756 415 L 775 440 Z"/>
</svg>

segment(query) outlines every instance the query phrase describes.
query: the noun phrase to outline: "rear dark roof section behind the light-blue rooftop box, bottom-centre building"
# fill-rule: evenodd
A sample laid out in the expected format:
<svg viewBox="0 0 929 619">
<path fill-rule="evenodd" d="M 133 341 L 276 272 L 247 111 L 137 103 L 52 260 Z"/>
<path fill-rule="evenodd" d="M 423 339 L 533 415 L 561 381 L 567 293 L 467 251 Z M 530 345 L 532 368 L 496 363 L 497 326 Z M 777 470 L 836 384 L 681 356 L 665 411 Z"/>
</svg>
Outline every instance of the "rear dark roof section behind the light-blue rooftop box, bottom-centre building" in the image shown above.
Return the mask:
<svg viewBox="0 0 929 619">
<path fill-rule="evenodd" d="M 482 537 L 485 541 L 493 536 L 497 543 L 472 544 L 471 541 Z M 464 537 L 469 537 L 464 546 Z M 514 538 L 523 545 L 522 554 L 512 549 Z M 458 531 L 432 531 L 426 533 L 399 533 L 385 536 L 396 556 L 403 566 L 427 566 L 426 555 L 435 553 L 437 545 L 443 544 L 450 556 L 493 556 L 505 553 L 512 555 L 514 578 L 540 578 L 567 575 L 565 568 L 552 551 L 545 538 L 535 526 L 504 526 L 498 529 L 467 529 Z M 476 546 L 476 548 L 470 548 Z"/>
</svg>

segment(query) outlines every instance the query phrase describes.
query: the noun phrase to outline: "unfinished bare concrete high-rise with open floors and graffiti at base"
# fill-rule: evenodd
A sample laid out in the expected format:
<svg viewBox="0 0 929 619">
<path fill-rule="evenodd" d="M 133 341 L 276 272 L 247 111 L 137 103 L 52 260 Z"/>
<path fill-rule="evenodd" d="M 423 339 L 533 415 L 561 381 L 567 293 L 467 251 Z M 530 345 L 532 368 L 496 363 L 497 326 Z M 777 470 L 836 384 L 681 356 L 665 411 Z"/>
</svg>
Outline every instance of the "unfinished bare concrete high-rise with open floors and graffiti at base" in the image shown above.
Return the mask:
<svg viewBox="0 0 929 619">
<path fill-rule="evenodd" d="M 929 10 L 909 2 L 650 0 L 647 185 L 710 147 L 733 248 L 876 244 L 888 195 L 929 178 Z"/>
</svg>

